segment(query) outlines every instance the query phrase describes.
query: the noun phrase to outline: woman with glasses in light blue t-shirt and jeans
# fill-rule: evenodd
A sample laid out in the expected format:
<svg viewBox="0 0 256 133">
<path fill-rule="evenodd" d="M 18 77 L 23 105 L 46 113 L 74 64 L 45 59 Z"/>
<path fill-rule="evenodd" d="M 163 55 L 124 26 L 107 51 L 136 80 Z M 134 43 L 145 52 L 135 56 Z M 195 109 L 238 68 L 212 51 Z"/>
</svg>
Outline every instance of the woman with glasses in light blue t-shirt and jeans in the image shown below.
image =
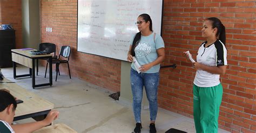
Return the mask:
<svg viewBox="0 0 256 133">
<path fill-rule="evenodd" d="M 127 61 L 131 64 L 131 88 L 133 95 L 133 113 L 136 121 L 134 132 L 140 132 L 142 121 L 140 111 L 142 107 L 143 87 L 145 87 L 147 100 L 150 106 L 150 132 L 156 131 L 157 117 L 157 90 L 159 83 L 160 63 L 164 60 L 164 41 L 159 34 L 153 33 L 152 20 L 149 14 L 140 14 L 137 18 L 139 32 L 133 36 Z M 139 63 L 139 71 L 134 67 L 133 57 Z"/>
</svg>

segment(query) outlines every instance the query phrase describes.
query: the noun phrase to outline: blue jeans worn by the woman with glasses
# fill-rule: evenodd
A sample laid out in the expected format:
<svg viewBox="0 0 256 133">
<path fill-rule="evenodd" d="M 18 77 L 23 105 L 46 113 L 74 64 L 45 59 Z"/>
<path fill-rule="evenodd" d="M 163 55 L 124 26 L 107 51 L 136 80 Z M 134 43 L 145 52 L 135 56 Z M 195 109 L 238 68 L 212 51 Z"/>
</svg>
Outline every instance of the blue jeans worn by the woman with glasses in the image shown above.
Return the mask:
<svg viewBox="0 0 256 133">
<path fill-rule="evenodd" d="M 133 95 L 133 113 L 135 121 L 141 123 L 140 113 L 142 110 L 143 86 L 145 87 L 147 100 L 150 106 L 150 120 L 156 121 L 157 117 L 157 90 L 159 84 L 159 72 L 138 73 L 131 68 L 131 87 Z"/>
</svg>

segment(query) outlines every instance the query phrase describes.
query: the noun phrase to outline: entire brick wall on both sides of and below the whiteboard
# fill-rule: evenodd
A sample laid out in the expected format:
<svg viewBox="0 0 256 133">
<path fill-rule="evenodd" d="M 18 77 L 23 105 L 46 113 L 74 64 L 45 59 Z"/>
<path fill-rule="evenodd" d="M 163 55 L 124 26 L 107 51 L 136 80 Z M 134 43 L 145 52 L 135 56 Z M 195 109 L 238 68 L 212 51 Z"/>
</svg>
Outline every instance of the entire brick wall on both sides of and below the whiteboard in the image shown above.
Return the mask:
<svg viewBox="0 0 256 133">
<path fill-rule="evenodd" d="M 256 3 L 244 0 L 165 0 L 163 38 L 164 64 L 176 69 L 160 71 L 159 107 L 193 117 L 192 83 L 195 70 L 183 56 L 196 54 L 201 42 L 202 20 L 218 17 L 226 26 L 228 70 L 221 76 L 224 86 L 219 124 L 232 132 L 256 131 Z M 52 27 L 53 32 L 46 32 Z M 41 41 L 72 48 L 71 76 L 112 91 L 120 90 L 120 61 L 77 52 L 77 0 L 41 0 Z M 60 68 L 66 73 L 66 67 Z"/>
</svg>

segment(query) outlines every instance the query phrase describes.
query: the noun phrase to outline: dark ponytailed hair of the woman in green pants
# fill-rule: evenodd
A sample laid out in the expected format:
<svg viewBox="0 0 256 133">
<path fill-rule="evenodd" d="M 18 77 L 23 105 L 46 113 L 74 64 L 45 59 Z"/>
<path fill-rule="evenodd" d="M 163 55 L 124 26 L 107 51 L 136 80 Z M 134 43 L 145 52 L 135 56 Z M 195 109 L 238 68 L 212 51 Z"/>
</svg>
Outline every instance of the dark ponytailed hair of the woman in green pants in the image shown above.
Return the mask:
<svg viewBox="0 0 256 133">
<path fill-rule="evenodd" d="M 212 21 L 212 28 L 217 28 L 216 37 L 226 46 L 226 29 L 218 18 L 211 17 L 206 20 Z"/>
</svg>

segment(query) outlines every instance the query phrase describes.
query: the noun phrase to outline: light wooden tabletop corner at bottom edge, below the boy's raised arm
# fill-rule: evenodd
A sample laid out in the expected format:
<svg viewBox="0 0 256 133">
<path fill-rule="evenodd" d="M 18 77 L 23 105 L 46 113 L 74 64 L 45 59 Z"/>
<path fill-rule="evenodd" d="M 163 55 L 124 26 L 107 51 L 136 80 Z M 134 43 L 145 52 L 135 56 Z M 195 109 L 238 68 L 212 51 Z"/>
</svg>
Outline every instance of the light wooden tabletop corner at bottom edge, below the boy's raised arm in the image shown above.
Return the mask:
<svg viewBox="0 0 256 133">
<path fill-rule="evenodd" d="M 63 132 L 77 133 L 75 130 L 68 127 L 68 125 L 65 125 L 62 123 L 41 128 L 39 130 L 34 131 L 33 133 L 63 133 Z"/>
</svg>

